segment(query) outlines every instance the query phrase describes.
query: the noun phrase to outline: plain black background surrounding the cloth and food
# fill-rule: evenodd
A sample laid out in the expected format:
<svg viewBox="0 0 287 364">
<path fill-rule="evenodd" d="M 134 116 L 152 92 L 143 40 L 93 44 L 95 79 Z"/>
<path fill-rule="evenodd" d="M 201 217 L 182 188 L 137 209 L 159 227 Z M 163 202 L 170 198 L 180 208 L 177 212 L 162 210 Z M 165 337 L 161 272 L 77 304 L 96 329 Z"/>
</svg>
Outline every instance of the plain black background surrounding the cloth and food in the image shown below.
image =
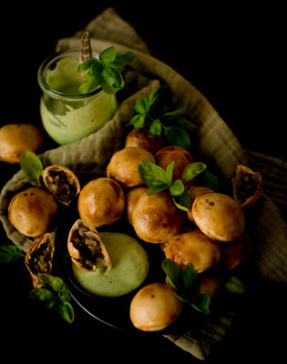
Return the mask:
<svg viewBox="0 0 287 364">
<path fill-rule="evenodd" d="M 282 8 L 275 5 L 210 5 L 208 2 L 49 2 L 5 5 L 2 12 L 1 126 L 31 123 L 41 127 L 40 63 L 56 41 L 74 35 L 108 6 L 133 25 L 151 54 L 185 76 L 208 98 L 238 136 L 241 146 L 286 159 L 285 37 Z M 159 5 L 159 3 L 158 3 Z M 55 147 L 46 136 L 43 149 Z M 18 170 L 0 162 L 1 186 Z M 1 227 L 1 243 L 8 244 Z M 23 261 L 1 264 L 2 351 L 11 358 L 84 360 L 174 359 L 198 362 L 168 339 L 127 337 L 99 325 L 75 307 L 69 326 L 28 298 L 31 288 Z M 282 354 L 282 292 L 274 288 L 251 300 L 210 362 L 279 359 Z M 260 304 L 258 304 L 260 302 Z M 59 350 L 59 351 L 57 351 Z M 42 355 L 41 355 L 42 354 Z M 38 361 L 38 360 L 37 360 Z M 276 361 L 274 361 L 276 362 Z"/>
</svg>

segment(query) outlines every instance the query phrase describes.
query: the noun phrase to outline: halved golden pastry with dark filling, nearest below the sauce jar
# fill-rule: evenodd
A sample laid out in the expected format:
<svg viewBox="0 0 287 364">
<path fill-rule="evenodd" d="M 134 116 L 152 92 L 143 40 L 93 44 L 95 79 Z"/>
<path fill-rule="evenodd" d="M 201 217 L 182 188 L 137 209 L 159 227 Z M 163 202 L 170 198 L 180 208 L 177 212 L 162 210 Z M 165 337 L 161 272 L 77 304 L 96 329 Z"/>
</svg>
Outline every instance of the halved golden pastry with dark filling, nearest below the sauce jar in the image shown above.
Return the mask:
<svg viewBox="0 0 287 364">
<path fill-rule="evenodd" d="M 75 173 L 64 166 L 52 165 L 42 172 L 47 189 L 64 205 L 69 205 L 80 192 L 80 184 Z"/>
</svg>

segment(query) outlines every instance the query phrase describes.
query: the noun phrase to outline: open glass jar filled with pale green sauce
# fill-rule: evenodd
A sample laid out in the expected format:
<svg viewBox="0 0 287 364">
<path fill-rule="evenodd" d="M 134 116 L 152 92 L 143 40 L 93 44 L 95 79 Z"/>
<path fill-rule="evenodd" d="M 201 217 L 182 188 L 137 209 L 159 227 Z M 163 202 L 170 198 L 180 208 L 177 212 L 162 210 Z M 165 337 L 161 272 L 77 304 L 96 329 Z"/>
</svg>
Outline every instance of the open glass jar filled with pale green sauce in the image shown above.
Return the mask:
<svg viewBox="0 0 287 364">
<path fill-rule="evenodd" d="M 100 87 L 87 94 L 79 92 L 83 79 L 77 72 L 78 65 L 78 51 L 62 51 L 46 58 L 38 70 L 38 83 L 43 90 L 42 123 L 59 145 L 96 132 L 118 107 L 115 94 L 107 94 Z"/>
</svg>

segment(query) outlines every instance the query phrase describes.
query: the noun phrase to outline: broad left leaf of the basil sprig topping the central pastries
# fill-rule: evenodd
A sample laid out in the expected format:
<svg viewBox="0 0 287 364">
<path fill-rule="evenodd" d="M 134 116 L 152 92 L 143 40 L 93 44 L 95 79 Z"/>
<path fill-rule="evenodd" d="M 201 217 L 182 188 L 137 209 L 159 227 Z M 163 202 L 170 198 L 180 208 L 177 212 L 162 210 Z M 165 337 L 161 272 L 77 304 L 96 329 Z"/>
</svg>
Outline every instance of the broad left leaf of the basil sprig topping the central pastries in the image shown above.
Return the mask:
<svg viewBox="0 0 287 364">
<path fill-rule="evenodd" d="M 165 170 L 148 161 L 138 163 L 138 174 L 141 180 L 148 187 L 169 187 L 169 181 Z"/>
</svg>

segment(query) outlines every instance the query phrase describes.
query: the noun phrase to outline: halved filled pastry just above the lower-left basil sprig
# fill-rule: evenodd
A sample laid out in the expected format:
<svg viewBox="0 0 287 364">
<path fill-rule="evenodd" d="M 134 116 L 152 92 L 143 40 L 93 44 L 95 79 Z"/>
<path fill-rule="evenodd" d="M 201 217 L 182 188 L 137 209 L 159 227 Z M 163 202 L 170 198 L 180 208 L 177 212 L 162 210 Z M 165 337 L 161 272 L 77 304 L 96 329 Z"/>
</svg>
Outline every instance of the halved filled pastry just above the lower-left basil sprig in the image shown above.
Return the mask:
<svg viewBox="0 0 287 364">
<path fill-rule="evenodd" d="M 26 252 L 25 265 L 29 271 L 34 288 L 41 288 L 38 274 L 50 274 L 54 257 L 54 235 L 44 233 L 36 238 Z"/>
</svg>

